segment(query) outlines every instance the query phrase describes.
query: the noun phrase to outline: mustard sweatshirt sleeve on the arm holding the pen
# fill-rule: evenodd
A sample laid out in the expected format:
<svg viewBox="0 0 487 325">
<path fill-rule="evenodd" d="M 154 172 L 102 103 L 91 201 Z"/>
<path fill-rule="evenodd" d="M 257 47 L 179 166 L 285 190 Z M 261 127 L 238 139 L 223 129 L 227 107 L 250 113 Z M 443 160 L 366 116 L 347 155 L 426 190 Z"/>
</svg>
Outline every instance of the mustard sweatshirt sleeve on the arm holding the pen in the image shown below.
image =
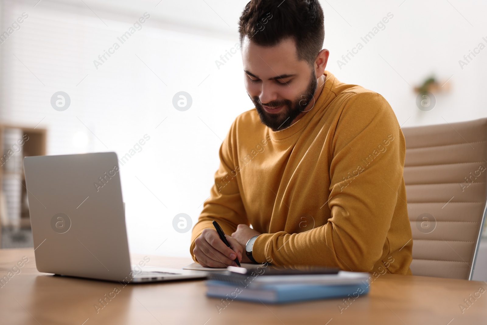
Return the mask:
<svg viewBox="0 0 487 325">
<path fill-rule="evenodd" d="M 215 182 L 210 189 L 210 197 L 203 204 L 203 210 L 200 213 L 198 222 L 192 229 L 189 251 L 196 262 L 198 261 L 193 254 L 194 241 L 201 235 L 203 229 L 214 229 L 213 220 L 218 222 L 227 235 L 237 230 L 239 224 L 249 225 L 240 196 L 238 177 L 235 172 L 235 125 L 236 120 L 232 123 L 220 146 L 220 166 L 215 172 Z"/>
</svg>

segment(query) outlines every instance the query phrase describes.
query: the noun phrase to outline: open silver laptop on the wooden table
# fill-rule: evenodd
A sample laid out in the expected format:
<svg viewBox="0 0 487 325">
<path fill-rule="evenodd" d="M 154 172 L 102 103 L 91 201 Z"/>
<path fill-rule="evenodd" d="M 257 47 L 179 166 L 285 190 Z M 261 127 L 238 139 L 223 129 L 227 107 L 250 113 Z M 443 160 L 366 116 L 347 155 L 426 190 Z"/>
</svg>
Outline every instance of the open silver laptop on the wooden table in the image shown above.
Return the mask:
<svg viewBox="0 0 487 325">
<path fill-rule="evenodd" d="M 124 283 L 206 277 L 144 260 L 131 267 L 116 153 L 25 157 L 24 172 L 39 272 Z"/>
</svg>

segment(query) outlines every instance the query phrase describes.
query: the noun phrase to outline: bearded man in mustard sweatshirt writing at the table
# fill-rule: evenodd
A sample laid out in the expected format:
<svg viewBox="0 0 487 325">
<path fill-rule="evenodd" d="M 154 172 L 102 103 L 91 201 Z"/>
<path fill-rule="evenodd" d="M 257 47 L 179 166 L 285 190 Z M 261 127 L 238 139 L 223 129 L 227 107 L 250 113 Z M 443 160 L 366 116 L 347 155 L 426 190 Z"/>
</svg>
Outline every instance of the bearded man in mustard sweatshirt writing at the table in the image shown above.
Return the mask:
<svg viewBox="0 0 487 325">
<path fill-rule="evenodd" d="M 318 0 L 252 0 L 239 23 L 255 109 L 220 148 L 193 259 L 411 274 L 405 141 L 389 103 L 325 71 Z"/>
</svg>

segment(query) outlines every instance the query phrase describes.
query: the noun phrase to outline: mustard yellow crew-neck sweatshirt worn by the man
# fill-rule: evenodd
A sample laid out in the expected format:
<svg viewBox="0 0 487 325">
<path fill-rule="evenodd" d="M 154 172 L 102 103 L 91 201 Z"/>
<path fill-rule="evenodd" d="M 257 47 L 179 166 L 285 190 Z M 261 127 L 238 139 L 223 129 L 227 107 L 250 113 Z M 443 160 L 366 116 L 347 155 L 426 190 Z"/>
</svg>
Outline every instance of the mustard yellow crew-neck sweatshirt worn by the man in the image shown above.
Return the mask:
<svg viewBox="0 0 487 325">
<path fill-rule="evenodd" d="M 262 233 L 253 247 L 259 263 L 411 274 L 397 119 L 381 95 L 324 75 L 314 107 L 287 129 L 272 131 L 255 108 L 232 123 L 192 255 L 217 220 L 226 234 L 239 224 Z"/>
</svg>

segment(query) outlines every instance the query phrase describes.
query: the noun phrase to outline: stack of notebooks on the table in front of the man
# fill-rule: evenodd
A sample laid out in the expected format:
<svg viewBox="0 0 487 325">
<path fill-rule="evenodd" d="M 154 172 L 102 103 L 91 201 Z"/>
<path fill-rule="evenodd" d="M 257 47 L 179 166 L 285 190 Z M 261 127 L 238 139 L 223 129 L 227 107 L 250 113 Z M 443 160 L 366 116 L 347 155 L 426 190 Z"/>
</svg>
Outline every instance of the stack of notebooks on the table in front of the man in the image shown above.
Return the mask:
<svg viewBox="0 0 487 325">
<path fill-rule="evenodd" d="M 228 267 L 227 271 L 209 274 L 206 295 L 227 300 L 286 303 L 348 295 L 357 298 L 369 291 L 369 273 L 321 270 L 293 270 L 286 274 L 271 267 L 260 270 Z"/>
</svg>

